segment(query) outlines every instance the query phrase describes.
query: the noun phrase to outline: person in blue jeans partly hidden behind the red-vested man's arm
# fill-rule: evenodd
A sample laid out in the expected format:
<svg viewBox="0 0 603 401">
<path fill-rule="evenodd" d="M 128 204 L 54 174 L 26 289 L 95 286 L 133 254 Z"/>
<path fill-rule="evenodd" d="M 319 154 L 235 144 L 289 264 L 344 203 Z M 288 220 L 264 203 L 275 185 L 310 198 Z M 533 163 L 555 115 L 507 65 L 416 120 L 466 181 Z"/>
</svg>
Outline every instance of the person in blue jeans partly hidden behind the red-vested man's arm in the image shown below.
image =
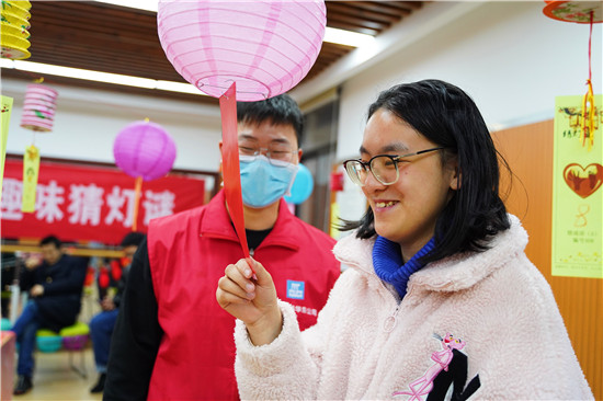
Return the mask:
<svg viewBox="0 0 603 401">
<path fill-rule="evenodd" d="M 109 360 L 109 350 L 111 346 L 111 335 L 113 334 L 113 328 L 115 326 L 115 320 L 117 319 L 117 312 L 120 311 L 120 301 L 124 293 L 127 275 L 129 272 L 129 265 L 138 245 L 145 239 L 145 234 L 141 232 L 129 232 L 122 240 L 122 248 L 124 249 L 124 255 L 128 260 L 127 265 L 122 272 L 122 277 L 117 282 L 117 289 L 114 295 L 107 294 L 101 299 L 102 312 L 94 316 L 90 321 L 90 335 L 92 337 L 92 346 L 94 350 L 94 362 L 96 364 L 96 371 L 99 373 L 99 381 L 90 390 L 90 392 L 102 392 L 104 389 L 104 381 L 106 378 L 106 363 Z"/>
</svg>

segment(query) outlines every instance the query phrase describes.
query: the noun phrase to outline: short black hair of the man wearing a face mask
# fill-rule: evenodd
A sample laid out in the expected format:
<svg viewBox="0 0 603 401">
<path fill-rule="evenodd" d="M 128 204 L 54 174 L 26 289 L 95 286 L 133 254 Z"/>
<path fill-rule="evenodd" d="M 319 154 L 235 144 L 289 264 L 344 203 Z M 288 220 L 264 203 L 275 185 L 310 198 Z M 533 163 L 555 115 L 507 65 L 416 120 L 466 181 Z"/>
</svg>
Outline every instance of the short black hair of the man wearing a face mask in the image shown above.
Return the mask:
<svg viewBox="0 0 603 401">
<path fill-rule="evenodd" d="M 291 125 L 302 146 L 304 114 L 297 103 L 286 93 L 259 102 L 237 102 L 237 121 L 242 124 L 260 125 L 272 122 L 274 125 Z"/>
</svg>

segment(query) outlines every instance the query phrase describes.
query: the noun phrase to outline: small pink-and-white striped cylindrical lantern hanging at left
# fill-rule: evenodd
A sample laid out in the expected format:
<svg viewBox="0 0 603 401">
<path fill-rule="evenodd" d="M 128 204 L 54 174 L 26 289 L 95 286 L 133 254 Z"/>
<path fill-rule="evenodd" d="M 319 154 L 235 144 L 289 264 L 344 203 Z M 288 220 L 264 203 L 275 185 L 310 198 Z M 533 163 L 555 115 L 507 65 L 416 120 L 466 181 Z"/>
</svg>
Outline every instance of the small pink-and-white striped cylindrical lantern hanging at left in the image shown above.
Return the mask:
<svg viewBox="0 0 603 401">
<path fill-rule="evenodd" d="M 53 130 L 57 91 L 39 83 L 31 83 L 25 89 L 21 126 L 39 133 Z"/>
</svg>

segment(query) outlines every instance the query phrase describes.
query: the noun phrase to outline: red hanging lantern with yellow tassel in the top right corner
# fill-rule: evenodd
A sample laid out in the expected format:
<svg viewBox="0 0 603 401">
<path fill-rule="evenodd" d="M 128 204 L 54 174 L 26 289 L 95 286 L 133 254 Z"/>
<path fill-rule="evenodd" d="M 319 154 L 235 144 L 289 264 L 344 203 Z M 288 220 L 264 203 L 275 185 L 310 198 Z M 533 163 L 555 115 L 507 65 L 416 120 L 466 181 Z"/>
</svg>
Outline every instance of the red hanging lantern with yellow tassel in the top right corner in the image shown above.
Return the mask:
<svg viewBox="0 0 603 401">
<path fill-rule="evenodd" d="M 588 145 L 591 150 L 594 144 L 595 119 L 599 111 L 594 105 L 594 93 L 592 90 L 591 70 L 591 42 L 592 25 L 603 22 L 603 7 L 601 1 L 549 1 L 545 0 L 546 7 L 543 12 L 546 16 L 558 21 L 574 22 L 578 24 L 590 24 L 589 37 L 589 78 L 587 79 L 587 93 L 582 102 L 582 146 Z"/>
</svg>

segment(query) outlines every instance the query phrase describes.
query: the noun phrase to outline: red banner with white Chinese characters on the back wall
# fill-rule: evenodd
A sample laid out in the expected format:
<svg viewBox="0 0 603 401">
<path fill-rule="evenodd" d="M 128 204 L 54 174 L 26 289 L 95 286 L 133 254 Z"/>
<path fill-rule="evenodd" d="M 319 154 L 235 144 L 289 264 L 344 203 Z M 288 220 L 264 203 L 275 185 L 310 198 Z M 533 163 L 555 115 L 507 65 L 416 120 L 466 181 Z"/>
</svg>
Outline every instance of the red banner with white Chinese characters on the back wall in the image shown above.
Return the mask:
<svg viewBox="0 0 603 401">
<path fill-rule="evenodd" d="M 117 244 L 132 231 L 134 179 L 106 168 L 42 162 L 35 211 L 21 211 L 23 162 L 7 160 L 2 185 L 1 237 L 35 238 L 54 234 L 62 241 Z M 138 231 L 149 220 L 200 206 L 201 179 L 168 175 L 143 183 Z"/>
</svg>

